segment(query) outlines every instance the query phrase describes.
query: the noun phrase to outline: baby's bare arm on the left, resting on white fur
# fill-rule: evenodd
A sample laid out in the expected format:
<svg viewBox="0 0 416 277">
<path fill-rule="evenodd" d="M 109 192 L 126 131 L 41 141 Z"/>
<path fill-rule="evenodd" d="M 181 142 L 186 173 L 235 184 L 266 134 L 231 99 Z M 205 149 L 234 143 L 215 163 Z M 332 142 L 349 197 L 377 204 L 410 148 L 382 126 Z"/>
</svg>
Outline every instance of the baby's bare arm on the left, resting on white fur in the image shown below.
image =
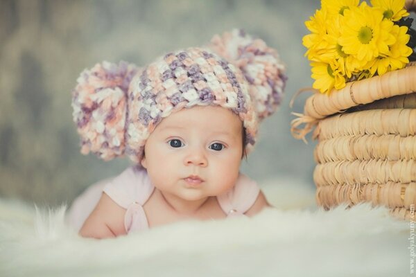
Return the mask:
<svg viewBox="0 0 416 277">
<path fill-rule="evenodd" d="M 79 234 L 89 238 L 114 238 L 125 235 L 124 215 L 125 209 L 103 193 Z"/>
</svg>

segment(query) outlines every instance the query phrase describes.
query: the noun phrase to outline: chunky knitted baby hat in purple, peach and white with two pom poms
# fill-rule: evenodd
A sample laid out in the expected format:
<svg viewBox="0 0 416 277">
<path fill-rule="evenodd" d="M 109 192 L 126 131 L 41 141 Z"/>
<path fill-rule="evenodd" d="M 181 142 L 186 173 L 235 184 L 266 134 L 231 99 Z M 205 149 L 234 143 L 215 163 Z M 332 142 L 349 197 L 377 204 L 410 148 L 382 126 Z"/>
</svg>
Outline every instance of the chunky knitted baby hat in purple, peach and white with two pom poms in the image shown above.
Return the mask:
<svg viewBox="0 0 416 277">
<path fill-rule="evenodd" d="M 85 69 L 73 91 L 81 152 L 139 163 L 162 118 L 196 105 L 219 105 L 245 128 L 245 151 L 258 123 L 279 106 L 286 76 L 277 51 L 242 30 L 215 35 L 208 48 L 168 53 L 144 68 L 103 62 Z"/>
</svg>

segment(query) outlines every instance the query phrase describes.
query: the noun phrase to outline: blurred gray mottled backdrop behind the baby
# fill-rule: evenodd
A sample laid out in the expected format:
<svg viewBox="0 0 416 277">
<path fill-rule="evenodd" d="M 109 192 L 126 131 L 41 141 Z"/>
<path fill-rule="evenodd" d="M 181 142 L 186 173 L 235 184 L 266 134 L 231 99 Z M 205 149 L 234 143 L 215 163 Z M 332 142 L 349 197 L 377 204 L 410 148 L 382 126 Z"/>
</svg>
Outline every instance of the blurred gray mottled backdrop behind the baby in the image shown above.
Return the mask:
<svg viewBox="0 0 416 277">
<path fill-rule="evenodd" d="M 291 136 L 288 102 L 312 84 L 302 36 L 319 2 L 0 0 L 0 197 L 71 202 L 129 165 L 79 152 L 71 90 L 83 69 L 102 60 L 148 64 L 235 27 L 277 48 L 289 77 L 281 109 L 261 125 L 242 170 L 260 184 L 289 176 L 313 186 L 315 143 Z"/>
</svg>

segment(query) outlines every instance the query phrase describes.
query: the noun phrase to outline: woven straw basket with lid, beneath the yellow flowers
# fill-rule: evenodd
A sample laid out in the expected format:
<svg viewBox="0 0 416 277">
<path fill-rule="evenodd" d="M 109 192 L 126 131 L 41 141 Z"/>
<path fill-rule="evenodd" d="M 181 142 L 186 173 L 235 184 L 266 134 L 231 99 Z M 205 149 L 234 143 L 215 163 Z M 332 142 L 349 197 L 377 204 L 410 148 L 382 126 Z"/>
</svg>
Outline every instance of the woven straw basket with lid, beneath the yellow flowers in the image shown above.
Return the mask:
<svg viewBox="0 0 416 277">
<path fill-rule="evenodd" d="M 406 1 L 415 10 L 416 0 Z M 296 114 L 297 139 L 313 127 L 318 205 L 385 205 L 410 220 L 416 205 L 416 64 L 314 93 Z M 300 128 L 300 125 L 303 125 Z"/>
</svg>

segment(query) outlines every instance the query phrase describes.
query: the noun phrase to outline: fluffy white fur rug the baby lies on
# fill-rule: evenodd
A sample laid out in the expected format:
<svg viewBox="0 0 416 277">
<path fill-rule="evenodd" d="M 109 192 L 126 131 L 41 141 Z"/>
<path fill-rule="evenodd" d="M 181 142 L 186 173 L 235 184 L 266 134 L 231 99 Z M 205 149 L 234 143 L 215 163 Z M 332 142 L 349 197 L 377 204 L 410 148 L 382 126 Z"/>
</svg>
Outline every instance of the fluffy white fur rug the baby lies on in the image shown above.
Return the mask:
<svg viewBox="0 0 416 277">
<path fill-rule="evenodd" d="M 65 223 L 65 206 L 40 210 L 0 199 L 0 276 L 410 274 L 409 223 L 385 208 L 363 204 L 327 212 L 311 208 L 313 190 L 305 186 L 264 191 L 279 208 L 108 240 L 78 237 Z"/>
</svg>

